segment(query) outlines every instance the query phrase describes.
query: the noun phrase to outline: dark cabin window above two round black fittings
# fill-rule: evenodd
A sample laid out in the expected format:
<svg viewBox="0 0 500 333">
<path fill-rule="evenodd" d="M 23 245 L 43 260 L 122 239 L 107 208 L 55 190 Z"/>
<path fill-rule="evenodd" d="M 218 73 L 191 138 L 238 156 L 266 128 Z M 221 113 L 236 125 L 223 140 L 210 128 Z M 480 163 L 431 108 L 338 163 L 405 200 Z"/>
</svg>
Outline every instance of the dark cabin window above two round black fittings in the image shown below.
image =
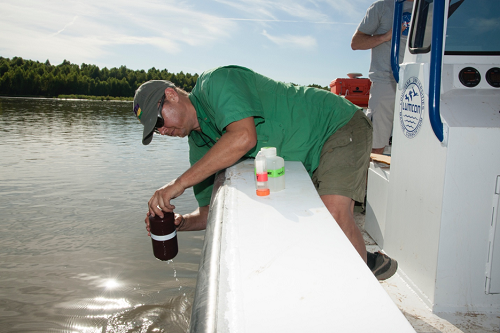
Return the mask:
<svg viewBox="0 0 500 333">
<path fill-rule="evenodd" d="M 451 0 L 445 54 L 499 55 L 499 22 L 499 0 Z"/>
</svg>

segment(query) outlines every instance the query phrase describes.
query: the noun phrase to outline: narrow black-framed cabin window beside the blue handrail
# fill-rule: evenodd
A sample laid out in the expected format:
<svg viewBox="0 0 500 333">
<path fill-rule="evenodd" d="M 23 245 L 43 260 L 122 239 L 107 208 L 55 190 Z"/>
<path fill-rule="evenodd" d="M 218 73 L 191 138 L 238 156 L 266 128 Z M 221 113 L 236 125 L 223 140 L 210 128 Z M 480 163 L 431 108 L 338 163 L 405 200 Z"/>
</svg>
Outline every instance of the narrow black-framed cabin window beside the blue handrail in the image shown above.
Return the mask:
<svg viewBox="0 0 500 333">
<path fill-rule="evenodd" d="M 431 50 L 432 0 L 421 0 L 415 4 L 409 47 L 411 53 L 427 53 Z"/>
</svg>

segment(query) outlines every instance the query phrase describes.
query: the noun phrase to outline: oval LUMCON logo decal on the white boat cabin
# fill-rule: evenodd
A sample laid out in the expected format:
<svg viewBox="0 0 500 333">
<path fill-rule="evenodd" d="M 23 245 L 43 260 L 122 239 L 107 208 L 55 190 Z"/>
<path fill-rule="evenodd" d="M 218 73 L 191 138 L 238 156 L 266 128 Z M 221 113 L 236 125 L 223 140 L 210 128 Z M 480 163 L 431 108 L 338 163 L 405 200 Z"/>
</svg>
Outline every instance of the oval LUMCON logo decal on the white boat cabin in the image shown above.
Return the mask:
<svg viewBox="0 0 500 333">
<path fill-rule="evenodd" d="M 399 101 L 399 121 L 404 135 L 412 139 L 420 130 L 424 119 L 424 89 L 420 80 L 410 77 Z"/>
</svg>

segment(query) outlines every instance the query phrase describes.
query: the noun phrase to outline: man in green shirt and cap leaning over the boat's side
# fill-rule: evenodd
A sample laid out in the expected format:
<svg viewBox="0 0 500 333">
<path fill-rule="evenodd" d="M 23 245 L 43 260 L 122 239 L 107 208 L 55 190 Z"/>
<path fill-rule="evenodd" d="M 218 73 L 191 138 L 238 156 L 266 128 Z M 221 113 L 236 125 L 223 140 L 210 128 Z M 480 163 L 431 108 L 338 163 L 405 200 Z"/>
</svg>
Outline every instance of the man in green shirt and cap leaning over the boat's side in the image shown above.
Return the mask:
<svg viewBox="0 0 500 333">
<path fill-rule="evenodd" d="M 143 144 L 155 132 L 187 136 L 189 143 L 191 167 L 148 202 L 148 231 L 149 215 L 173 211 L 170 201 L 189 187 L 199 208 L 176 215 L 178 230 L 205 229 L 215 173 L 273 146 L 285 160 L 304 164 L 325 206 L 366 262 L 353 207 L 365 195 L 372 125 L 359 107 L 329 91 L 225 66 L 201 74 L 190 94 L 169 81 L 148 81 L 137 89 L 133 110 L 144 125 Z"/>
</svg>

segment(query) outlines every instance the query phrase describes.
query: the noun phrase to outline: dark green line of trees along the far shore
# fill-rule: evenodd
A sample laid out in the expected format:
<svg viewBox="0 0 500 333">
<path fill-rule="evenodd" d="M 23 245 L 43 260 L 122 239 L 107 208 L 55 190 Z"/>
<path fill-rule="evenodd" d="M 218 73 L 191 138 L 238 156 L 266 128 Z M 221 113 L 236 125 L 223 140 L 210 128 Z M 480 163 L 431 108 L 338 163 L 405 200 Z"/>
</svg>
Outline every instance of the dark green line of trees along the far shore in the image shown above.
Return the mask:
<svg viewBox="0 0 500 333">
<path fill-rule="evenodd" d="M 126 66 L 100 69 L 96 65 L 72 64 L 64 60 L 52 65 L 20 57 L 0 57 L 0 95 L 3 96 L 112 96 L 132 99 L 135 90 L 149 80 L 169 80 L 190 92 L 198 74 L 177 74 L 151 68 L 131 70 Z"/>
</svg>

